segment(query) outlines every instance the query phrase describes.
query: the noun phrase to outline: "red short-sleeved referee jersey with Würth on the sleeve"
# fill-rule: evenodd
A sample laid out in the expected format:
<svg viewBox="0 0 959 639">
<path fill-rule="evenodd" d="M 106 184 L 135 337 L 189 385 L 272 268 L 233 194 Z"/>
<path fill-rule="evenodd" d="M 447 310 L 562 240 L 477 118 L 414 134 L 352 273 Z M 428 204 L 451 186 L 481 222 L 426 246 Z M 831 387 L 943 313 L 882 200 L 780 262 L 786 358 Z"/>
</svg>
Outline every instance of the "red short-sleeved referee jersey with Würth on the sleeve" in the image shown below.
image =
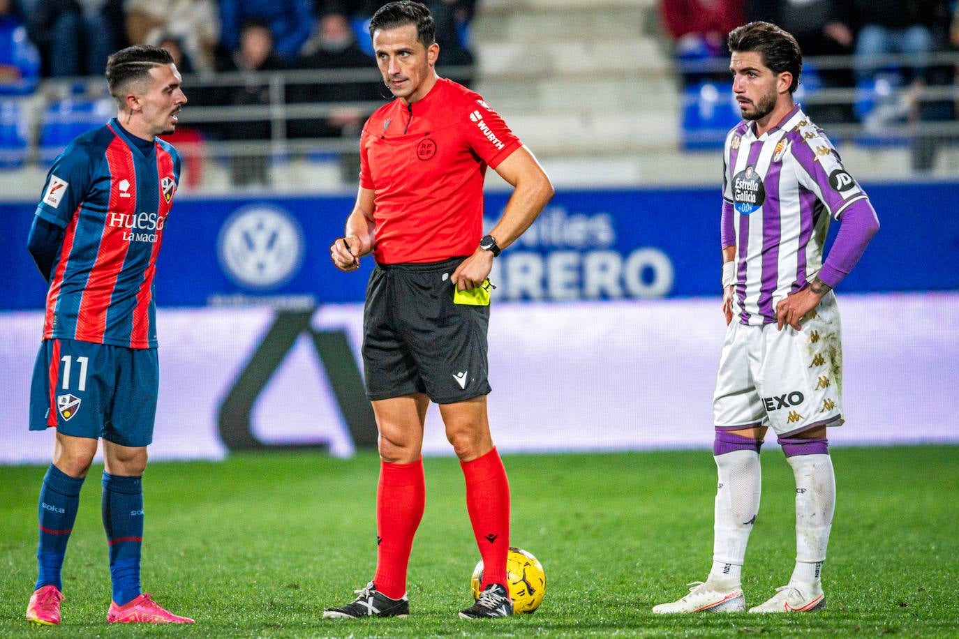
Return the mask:
<svg viewBox="0 0 959 639">
<path fill-rule="evenodd" d="M 486 167 L 521 145 L 478 93 L 452 80 L 436 80 L 414 103 L 379 108 L 360 140 L 360 186 L 376 193 L 376 261 L 472 255 L 482 236 Z"/>
</svg>

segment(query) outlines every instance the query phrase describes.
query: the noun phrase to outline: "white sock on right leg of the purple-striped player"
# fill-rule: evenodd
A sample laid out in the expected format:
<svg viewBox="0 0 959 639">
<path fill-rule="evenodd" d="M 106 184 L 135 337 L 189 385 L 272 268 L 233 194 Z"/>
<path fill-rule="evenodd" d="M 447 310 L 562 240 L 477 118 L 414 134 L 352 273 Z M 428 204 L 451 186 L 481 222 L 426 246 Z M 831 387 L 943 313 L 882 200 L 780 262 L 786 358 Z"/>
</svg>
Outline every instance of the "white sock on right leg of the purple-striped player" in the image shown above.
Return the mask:
<svg viewBox="0 0 959 639">
<path fill-rule="evenodd" d="M 796 476 L 796 568 L 790 582 L 818 583 L 836 501 L 832 459 L 816 454 L 786 461 Z"/>
</svg>

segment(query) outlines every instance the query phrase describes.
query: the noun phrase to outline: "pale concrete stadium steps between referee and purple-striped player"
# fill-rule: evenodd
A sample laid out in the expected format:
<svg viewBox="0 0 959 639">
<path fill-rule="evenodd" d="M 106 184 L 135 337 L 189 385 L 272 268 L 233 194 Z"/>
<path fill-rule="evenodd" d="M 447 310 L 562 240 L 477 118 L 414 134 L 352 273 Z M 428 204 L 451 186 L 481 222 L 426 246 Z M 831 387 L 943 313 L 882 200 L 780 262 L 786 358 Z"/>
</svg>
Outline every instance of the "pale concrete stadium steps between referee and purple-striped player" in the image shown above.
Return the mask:
<svg viewBox="0 0 959 639">
<path fill-rule="evenodd" d="M 554 181 L 719 174 L 714 154 L 679 150 L 681 95 L 656 0 L 482 0 L 472 34 L 477 90 Z"/>
</svg>

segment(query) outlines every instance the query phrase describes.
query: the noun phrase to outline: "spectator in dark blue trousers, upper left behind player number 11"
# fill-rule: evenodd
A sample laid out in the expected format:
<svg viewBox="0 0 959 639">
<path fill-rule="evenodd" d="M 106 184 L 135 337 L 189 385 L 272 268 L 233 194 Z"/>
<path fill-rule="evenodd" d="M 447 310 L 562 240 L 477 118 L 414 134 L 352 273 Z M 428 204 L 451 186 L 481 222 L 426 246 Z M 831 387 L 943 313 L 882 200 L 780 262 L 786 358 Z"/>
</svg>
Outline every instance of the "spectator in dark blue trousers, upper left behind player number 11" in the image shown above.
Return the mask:
<svg viewBox="0 0 959 639">
<path fill-rule="evenodd" d="M 126 45 L 123 0 L 22 0 L 27 32 L 44 75 L 99 76 L 106 58 Z"/>
</svg>

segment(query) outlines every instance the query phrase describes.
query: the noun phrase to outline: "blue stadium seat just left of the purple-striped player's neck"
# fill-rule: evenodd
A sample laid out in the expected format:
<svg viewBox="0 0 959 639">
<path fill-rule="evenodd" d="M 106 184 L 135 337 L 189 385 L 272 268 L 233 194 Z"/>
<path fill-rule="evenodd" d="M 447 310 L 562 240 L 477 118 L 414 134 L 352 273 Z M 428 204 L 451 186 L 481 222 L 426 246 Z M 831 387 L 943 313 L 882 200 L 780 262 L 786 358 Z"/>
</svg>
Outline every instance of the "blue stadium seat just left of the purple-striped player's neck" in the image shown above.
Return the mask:
<svg viewBox="0 0 959 639">
<path fill-rule="evenodd" d="M 722 148 L 726 133 L 741 120 L 730 83 L 702 82 L 686 87 L 682 108 L 682 145 L 688 150 Z"/>
</svg>

